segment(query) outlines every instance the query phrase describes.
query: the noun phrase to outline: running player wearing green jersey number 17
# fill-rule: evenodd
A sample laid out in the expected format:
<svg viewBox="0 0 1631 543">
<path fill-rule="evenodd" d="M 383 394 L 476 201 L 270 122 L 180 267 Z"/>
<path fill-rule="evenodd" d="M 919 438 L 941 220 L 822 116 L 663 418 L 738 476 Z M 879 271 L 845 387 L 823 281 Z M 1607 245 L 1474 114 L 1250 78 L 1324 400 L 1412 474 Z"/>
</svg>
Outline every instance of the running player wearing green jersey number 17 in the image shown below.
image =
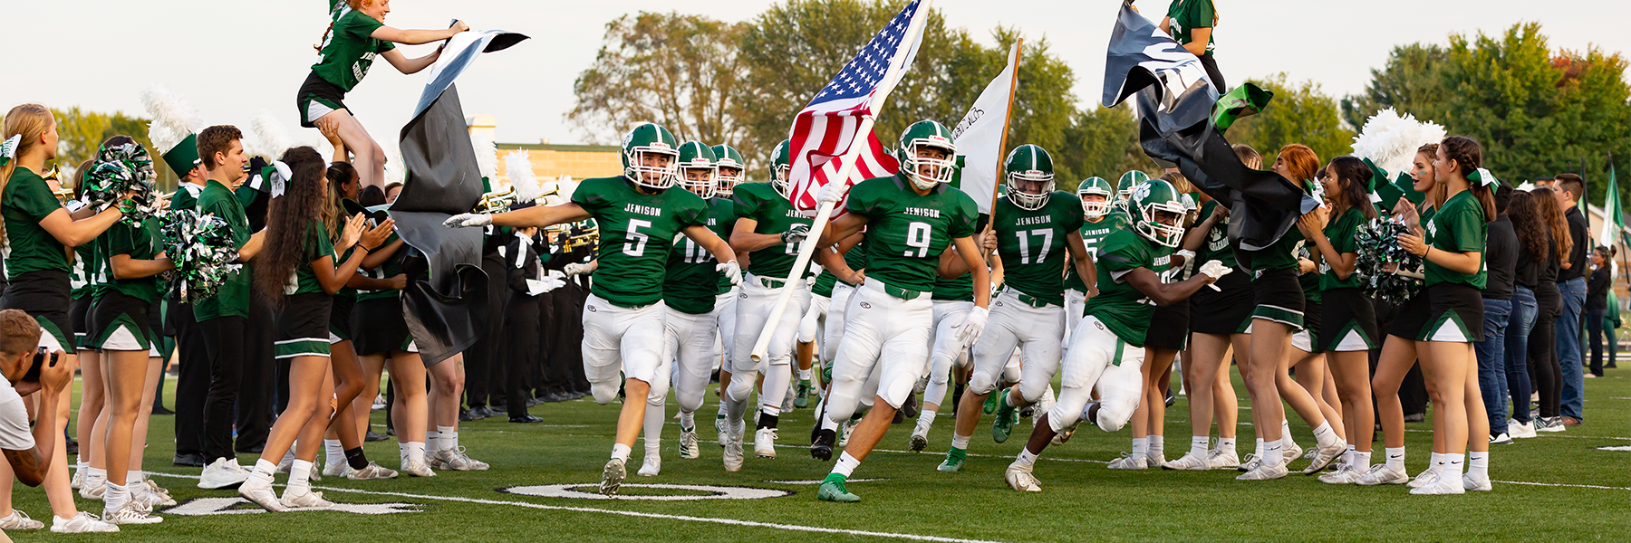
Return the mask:
<svg viewBox="0 0 1631 543">
<path fill-rule="evenodd" d="M 1003 161 L 1008 194 L 992 207 L 992 230 L 1003 266 L 1003 289 L 985 333 L 974 344 L 974 377 L 957 406 L 957 427 L 939 471 L 957 471 L 980 424 L 980 404 L 998 385 L 1003 367 L 1021 351 L 1019 386 L 997 400 L 992 439 L 1008 440 L 1019 409 L 1042 400 L 1059 372 L 1065 334 L 1065 284 L 1059 269 L 1068 254 L 1083 277 L 1094 274 L 1081 241 L 1081 212 L 1070 192 L 1054 191 L 1054 160 L 1037 145 L 1019 145 Z"/>
</svg>

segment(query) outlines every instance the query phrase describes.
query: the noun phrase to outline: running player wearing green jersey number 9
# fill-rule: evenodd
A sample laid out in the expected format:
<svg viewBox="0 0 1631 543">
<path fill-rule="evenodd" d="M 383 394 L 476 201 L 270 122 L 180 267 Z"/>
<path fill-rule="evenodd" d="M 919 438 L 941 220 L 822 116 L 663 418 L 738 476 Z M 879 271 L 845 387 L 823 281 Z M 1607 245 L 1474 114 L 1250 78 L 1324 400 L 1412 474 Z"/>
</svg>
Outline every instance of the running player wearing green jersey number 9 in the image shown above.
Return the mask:
<svg viewBox="0 0 1631 543">
<path fill-rule="evenodd" d="M 951 258 L 961 258 L 974 274 L 975 308 L 957 326 L 962 342 L 972 342 L 985 328 L 992 289 L 980 246 L 974 241 L 977 209 L 967 194 L 946 186 L 957 168 L 951 130 L 935 121 L 913 122 L 900 134 L 895 153 L 900 173 L 866 179 L 850 189 L 848 214 L 827 225 L 819 241 L 819 246 L 830 246 L 868 228 L 864 282 L 835 253 L 817 254 L 835 276 L 861 284 L 850 300 L 851 311 L 845 315 L 845 338 L 827 395 L 827 419 L 842 422 L 863 404 L 871 404 L 822 481 L 820 501 L 861 501 L 845 488 L 845 481 L 889 430 L 895 409 L 923 375 L 930 357 L 930 290 L 935 277 L 961 276 L 946 264 Z M 822 188 L 817 201 L 837 202 L 843 192 L 843 184 L 832 183 Z M 948 251 L 949 246 L 956 251 Z M 879 377 L 876 390 L 871 390 L 866 385 L 874 367 Z M 824 439 L 830 439 L 830 432 L 824 429 L 822 434 L 829 434 Z"/>
</svg>

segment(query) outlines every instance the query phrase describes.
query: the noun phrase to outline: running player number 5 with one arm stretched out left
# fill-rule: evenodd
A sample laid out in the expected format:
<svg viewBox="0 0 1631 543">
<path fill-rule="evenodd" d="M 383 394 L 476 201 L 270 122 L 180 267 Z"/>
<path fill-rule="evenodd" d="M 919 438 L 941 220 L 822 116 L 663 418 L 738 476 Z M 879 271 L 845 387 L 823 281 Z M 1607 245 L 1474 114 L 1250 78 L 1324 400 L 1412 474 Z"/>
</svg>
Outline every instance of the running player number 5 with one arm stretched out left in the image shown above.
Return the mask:
<svg viewBox="0 0 1631 543">
<path fill-rule="evenodd" d="M 458 214 L 444 225 L 548 227 L 594 219 L 600 225 L 599 271 L 584 302 L 584 373 L 600 404 L 618 393 L 644 398 L 662 365 L 662 282 L 674 240 L 685 235 L 714 259 L 714 269 L 740 282 L 731 245 L 708 230 L 708 202 L 690 191 L 670 191 L 678 170 L 678 142 L 656 124 L 636 126 L 623 137 L 623 174 L 584 179 L 572 201 L 506 214 Z M 617 421 L 617 444 L 602 471 L 600 492 L 615 496 L 646 417 L 644 401 L 625 401 Z"/>
</svg>

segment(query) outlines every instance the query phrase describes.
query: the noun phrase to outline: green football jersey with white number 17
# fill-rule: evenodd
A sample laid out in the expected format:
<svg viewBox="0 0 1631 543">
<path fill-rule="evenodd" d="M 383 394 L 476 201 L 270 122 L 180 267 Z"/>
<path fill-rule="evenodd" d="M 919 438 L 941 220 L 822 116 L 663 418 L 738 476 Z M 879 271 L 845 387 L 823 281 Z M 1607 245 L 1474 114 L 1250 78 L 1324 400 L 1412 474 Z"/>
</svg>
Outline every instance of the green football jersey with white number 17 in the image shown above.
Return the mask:
<svg viewBox="0 0 1631 543">
<path fill-rule="evenodd" d="M 1059 267 L 1070 263 L 1065 238 L 1083 223 L 1080 201 L 1070 192 L 1054 191 L 1042 209 L 1026 210 L 1000 197 L 992 215 L 997 253 L 1003 258 L 1003 284 L 1037 300 L 1063 305 L 1065 282 Z"/>
</svg>

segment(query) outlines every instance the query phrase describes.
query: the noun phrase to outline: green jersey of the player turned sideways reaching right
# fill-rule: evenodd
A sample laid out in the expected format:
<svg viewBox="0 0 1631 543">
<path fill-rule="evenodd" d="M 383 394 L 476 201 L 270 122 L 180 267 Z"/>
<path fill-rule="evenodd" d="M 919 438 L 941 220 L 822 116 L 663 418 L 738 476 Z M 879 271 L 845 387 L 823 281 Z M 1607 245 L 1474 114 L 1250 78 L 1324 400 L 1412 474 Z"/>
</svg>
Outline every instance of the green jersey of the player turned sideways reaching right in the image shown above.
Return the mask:
<svg viewBox="0 0 1631 543">
<path fill-rule="evenodd" d="M 1099 245 L 1099 295 L 1088 298 L 1083 315 L 1098 318 L 1116 338 L 1143 347 L 1155 302 L 1127 284 L 1125 276 L 1145 267 L 1165 276 L 1173 264 L 1173 249 L 1158 246 L 1132 230 L 1116 230 Z"/>
</svg>

